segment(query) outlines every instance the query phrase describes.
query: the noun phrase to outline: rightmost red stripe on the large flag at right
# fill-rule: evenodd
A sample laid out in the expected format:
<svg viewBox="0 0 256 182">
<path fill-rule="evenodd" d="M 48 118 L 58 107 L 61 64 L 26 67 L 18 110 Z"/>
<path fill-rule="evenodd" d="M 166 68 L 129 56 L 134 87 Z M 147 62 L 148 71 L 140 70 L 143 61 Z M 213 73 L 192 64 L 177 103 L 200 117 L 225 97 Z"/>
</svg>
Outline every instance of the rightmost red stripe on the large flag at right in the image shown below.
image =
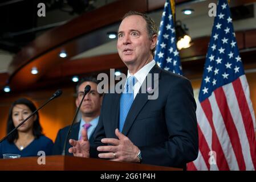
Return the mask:
<svg viewBox="0 0 256 182">
<path fill-rule="evenodd" d="M 256 141 L 254 134 L 253 118 L 251 118 L 250 109 L 246 101 L 245 93 L 243 92 L 241 80 L 239 78 L 233 81 L 233 87 L 235 91 L 235 96 L 237 97 L 239 109 L 242 114 L 243 125 L 245 125 L 245 131 L 250 145 L 250 153 L 253 160 L 254 169 L 256 169 Z"/>
</svg>

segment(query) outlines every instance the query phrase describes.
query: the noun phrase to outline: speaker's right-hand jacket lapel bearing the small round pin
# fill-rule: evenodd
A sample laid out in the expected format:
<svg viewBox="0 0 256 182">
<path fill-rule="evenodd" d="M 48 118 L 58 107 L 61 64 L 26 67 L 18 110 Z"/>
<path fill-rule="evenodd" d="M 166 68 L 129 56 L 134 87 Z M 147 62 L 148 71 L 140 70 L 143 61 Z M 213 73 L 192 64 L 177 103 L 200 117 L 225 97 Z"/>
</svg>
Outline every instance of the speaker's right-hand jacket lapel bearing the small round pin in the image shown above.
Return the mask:
<svg viewBox="0 0 256 182">
<path fill-rule="evenodd" d="M 152 83 L 155 82 L 153 73 L 159 73 L 159 79 L 160 79 L 160 73 L 161 69 L 157 66 L 157 64 L 149 71 L 149 73 L 152 74 Z M 148 76 L 147 76 L 148 77 Z M 143 81 L 143 84 L 147 86 L 147 77 Z M 154 90 L 158 89 L 159 85 L 153 85 Z M 141 88 L 143 88 L 143 85 L 141 85 Z M 131 129 L 131 126 L 133 122 L 135 121 L 137 115 L 140 113 L 141 109 L 143 109 L 143 106 L 147 103 L 148 101 L 148 96 L 151 95 L 152 93 L 141 93 L 141 88 L 139 90 L 139 93 L 137 93 L 135 100 L 132 103 L 131 109 L 129 110 L 127 114 L 127 118 L 125 119 L 124 122 L 124 127 L 122 133 L 124 135 L 127 135 L 129 130 Z M 147 88 L 147 87 L 145 87 Z M 119 97 L 119 103 L 120 103 L 120 97 Z M 118 110 L 119 111 L 119 110 Z"/>
</svg>

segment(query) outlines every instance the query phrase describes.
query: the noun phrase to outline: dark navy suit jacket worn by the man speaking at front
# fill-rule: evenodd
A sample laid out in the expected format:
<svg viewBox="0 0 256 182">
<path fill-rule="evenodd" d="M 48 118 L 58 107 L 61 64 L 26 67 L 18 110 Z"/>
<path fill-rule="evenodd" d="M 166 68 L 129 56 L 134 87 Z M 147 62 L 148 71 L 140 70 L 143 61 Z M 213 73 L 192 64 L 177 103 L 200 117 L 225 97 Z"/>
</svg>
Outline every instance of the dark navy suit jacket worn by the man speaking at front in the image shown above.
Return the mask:
<svg viewBox="0 0 256 182">
<path fill-rule="evenodd" d="M 142 163 L 184 167 L 197 158 L 198 130 L 196 102 L 190 81 L 164 71 L 155 65 L 149 73 L 159 74 L 159 97 L 148 100 L 149 93 L 138 93 L 124 123 L 122 133 L 142 153 Z M 145 79 L 147 80 L 147 79 Z M 155 85 L 154 85 L 155 86 Z M 154 88 L 155 89 L 155 88 Z M 99 123 L 95 130 L 95 145 L 90 155 L 97 157 L 101 138 L 117 138 L 121 94 L 105 94 Z"/>
</svg>

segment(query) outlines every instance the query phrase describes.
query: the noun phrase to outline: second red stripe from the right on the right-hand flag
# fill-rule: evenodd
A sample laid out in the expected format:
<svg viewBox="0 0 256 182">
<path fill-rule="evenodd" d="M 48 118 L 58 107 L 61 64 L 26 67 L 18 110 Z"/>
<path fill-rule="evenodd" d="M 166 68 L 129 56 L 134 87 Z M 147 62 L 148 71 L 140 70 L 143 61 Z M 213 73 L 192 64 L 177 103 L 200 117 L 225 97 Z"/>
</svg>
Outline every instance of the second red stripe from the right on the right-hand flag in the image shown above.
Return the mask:
<svg viewBox="0 0 256 182">
<path fill-rule="evenodd" d="M 241 142 L 239 139 L 237 128 L 235 127 L 232 115 L 229 110 L 229 105 L 227 104 L 227 98 L 225 96 L 224 90 L 222 87 L 220 87 L 216 89 L 214 93 L 217 104 L 220 108 L 224 124 L 226 126 L 227 134 L 229 134 L 230 142 L 233 147 L 235 157 L 237 158 L 239 170 L 245 170 L 246 166 L 245 159 L 243 159 Z"/>
</svg>

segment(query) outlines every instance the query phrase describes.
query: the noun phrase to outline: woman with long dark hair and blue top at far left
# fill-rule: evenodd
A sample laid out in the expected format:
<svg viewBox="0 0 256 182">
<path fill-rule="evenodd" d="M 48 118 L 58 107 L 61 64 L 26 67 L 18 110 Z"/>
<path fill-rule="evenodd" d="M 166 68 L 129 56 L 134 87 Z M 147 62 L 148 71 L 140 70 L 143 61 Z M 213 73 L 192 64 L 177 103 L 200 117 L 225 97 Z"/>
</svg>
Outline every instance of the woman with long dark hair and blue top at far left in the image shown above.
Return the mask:
<svg viewBox="0 0 256 182">
<path fill-rule="evenodd" d="M 19 98 L 14 101 L 9 110 L 7 133 L 18 126 L 35 110 L 35 105 L 26 98 Z M 44 151 L 46 155 L 51 155 L 52 147 L 52 140 L 42 134 L 39 114 L 36 112 L 18 130 L 15 130 L 0 143 L 0 158 L 3 158 L 3 154 L 18 154 L 21 157 L 37 156 L 38 151 Z"/>
</svg>

